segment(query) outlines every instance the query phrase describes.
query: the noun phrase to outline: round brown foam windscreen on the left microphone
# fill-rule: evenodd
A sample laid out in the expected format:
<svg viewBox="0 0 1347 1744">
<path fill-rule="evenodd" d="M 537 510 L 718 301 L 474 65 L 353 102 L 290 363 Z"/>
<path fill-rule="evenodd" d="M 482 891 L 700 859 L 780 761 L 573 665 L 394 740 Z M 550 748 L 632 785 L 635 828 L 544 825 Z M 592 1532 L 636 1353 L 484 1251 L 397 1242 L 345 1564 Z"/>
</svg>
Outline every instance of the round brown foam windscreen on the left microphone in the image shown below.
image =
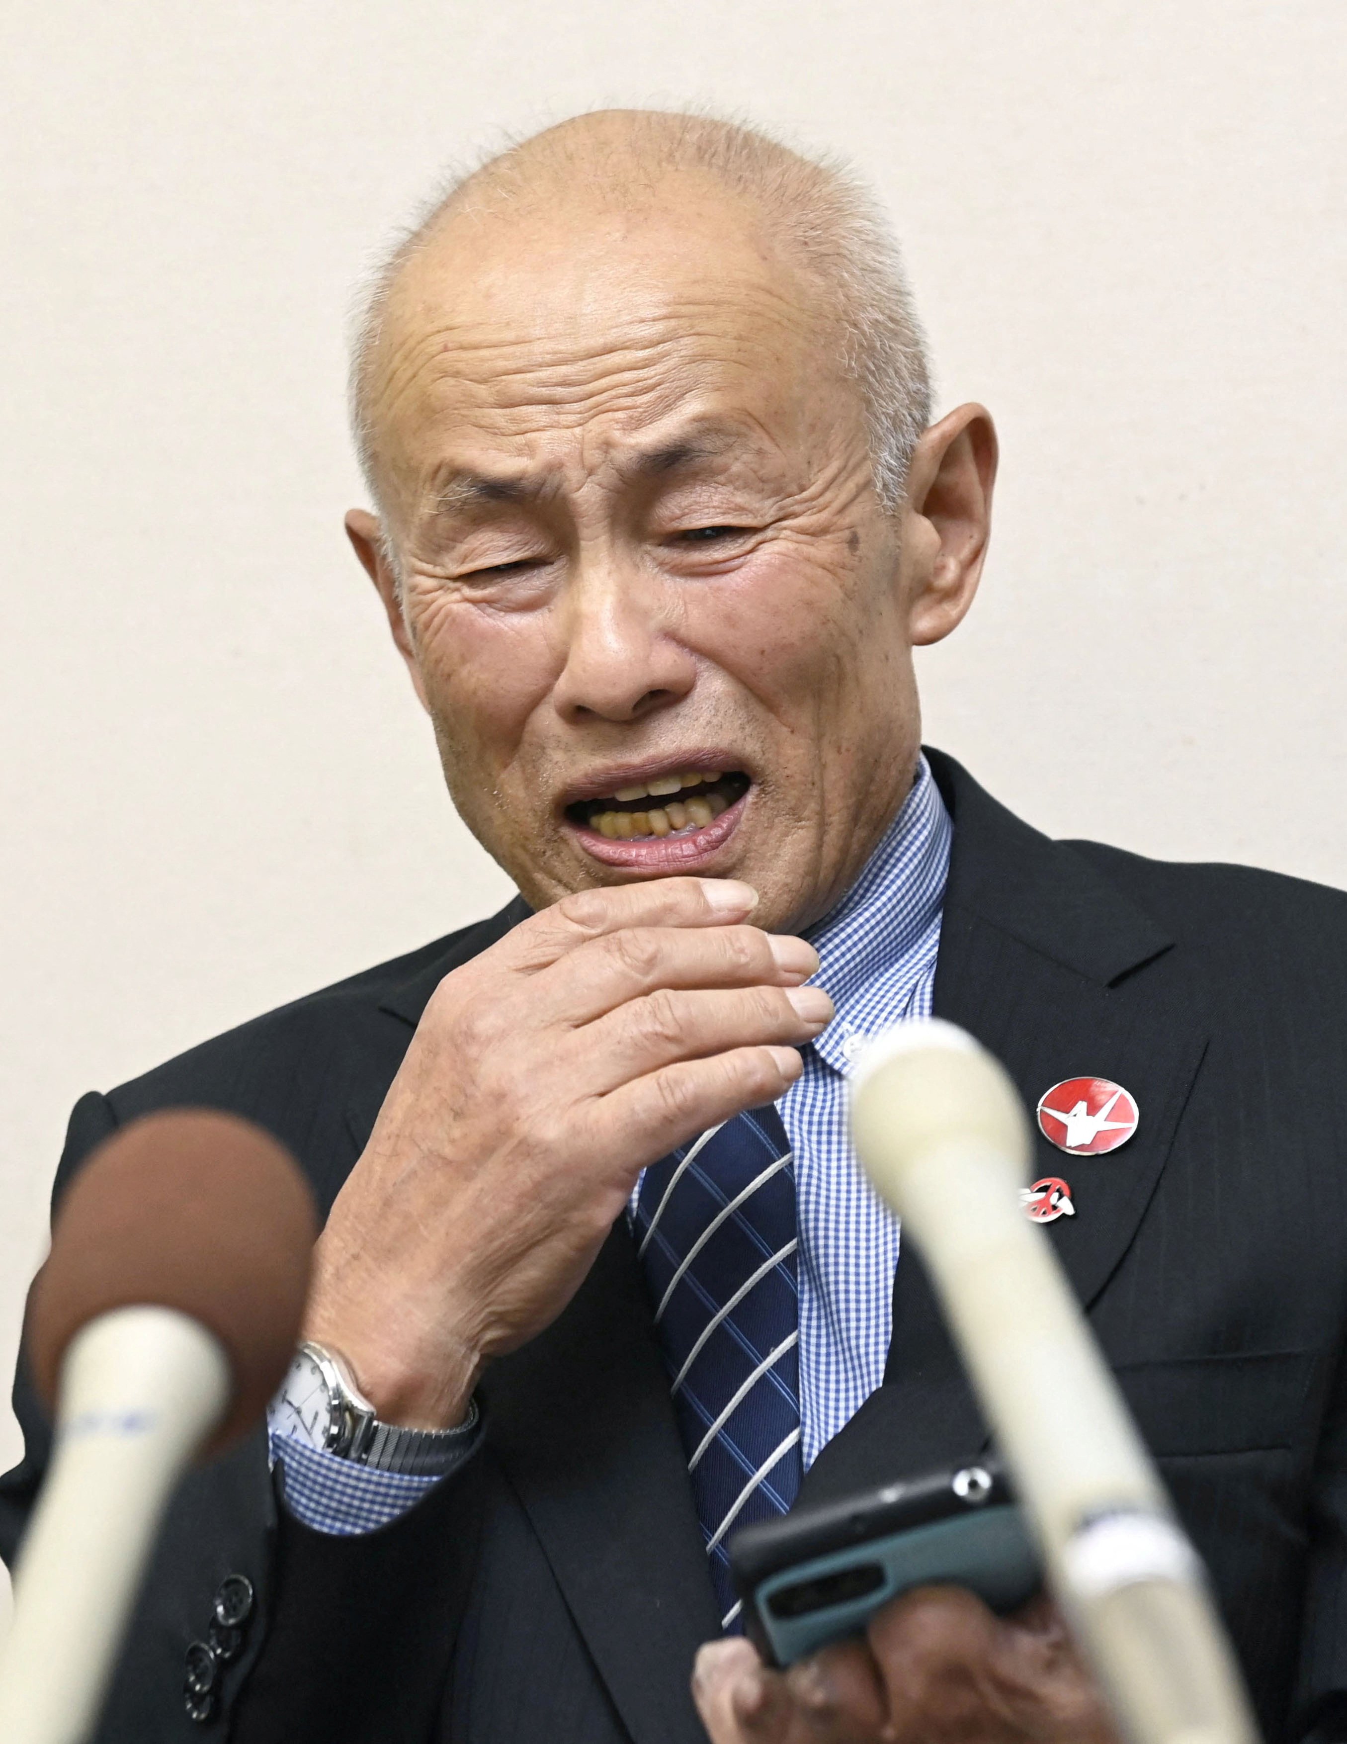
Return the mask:
<svg viewBox="0 0 1347 1744">
<path fill-rule="evenodd" d="M 202 1456 L 265 1411 L 300 1338 L 317 1216 L 289 1151 L 216 1109 L 164 1109 L 115 1132 L 63 1196 L 28 1298 L 26 1343 L 54 1414 L 61 1359 L 113 1308 L 176 1308 L 223 1345 L 234 1393 Z"/>
</svg>

